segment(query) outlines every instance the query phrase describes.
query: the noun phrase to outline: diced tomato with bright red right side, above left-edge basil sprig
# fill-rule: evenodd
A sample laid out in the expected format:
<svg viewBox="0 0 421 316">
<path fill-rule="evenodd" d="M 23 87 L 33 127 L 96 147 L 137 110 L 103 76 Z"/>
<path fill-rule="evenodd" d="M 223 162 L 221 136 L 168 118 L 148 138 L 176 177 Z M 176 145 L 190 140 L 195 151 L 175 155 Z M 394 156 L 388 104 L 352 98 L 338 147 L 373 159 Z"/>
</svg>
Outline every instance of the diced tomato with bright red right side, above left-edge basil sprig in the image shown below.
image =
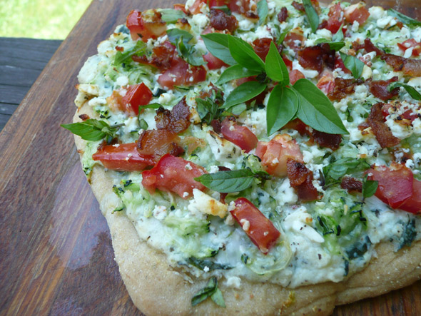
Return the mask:
<svg viewBox="0 0 421 316">
<path fill-rule="evenodd" d="M 151 90 L 145 83 L 133 84 L 113 91 L 107 98 L 111 110 L 120 110 L 128 115 L 138 115 L 139 106 L 146 106 L 153 97 Z"/>
</svg>

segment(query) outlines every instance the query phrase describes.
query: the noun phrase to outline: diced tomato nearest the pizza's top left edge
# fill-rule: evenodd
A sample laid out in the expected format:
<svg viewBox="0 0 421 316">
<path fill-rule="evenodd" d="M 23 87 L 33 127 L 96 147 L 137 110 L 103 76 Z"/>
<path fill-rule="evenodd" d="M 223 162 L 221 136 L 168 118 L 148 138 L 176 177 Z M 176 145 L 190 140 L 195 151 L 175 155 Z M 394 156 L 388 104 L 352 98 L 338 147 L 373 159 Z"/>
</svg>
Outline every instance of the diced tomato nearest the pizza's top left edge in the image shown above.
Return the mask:
<svg viewBox="0 0 421 316">
<path fill-rule="evenodd" d="M 165 34 L 167 29 L 166 23 L 161 20 L 161 14 L 156 10 L 143 13 L 131 10 L 127 16 L 126 25 L 133 41 L 139 38 L 144 42 L 148 39 L 157 39 L 158 36 Z"/>
</svg>

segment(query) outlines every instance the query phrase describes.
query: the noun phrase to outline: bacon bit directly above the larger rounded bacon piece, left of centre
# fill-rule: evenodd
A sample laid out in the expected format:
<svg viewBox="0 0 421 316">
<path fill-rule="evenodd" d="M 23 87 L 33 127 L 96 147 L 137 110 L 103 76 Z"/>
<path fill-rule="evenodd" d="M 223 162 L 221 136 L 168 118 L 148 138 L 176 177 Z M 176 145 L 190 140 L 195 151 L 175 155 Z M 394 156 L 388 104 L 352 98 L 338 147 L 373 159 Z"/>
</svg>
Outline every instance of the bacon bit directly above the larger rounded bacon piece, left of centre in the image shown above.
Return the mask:
<svg viewBox="0 0 421 316">
<path fill-rule="evenodd" d="M 164 108 L 156 110 L 156 128 L 166 129 L 173 133 L 181 133 L 186 131 L 190 126 L 190 109 L 186 103 L 186 98 L 183 98 L 171 111 Z"/>
</svg>

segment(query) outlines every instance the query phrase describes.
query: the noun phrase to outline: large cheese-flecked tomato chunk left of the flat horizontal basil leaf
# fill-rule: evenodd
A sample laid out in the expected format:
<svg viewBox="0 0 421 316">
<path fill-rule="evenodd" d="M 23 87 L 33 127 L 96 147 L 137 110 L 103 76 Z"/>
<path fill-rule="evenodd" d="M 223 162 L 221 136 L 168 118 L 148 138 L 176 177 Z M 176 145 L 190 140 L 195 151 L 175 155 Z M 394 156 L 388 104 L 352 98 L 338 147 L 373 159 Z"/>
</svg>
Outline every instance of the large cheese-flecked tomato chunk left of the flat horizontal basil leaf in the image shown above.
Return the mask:
<svg viewBox="0 0 421 316">
<path fill-rule="evenodd" d="M 204 173 L 206 170 L 200 165 L 167 153 L 151 170 L 143 171 L 142 185 L 151 194 L 158 189 L 177 193 L 186 199 L 192 196 L 194 188 L 206 190 L 202 183 L 194 180 Z"/>
</svg>

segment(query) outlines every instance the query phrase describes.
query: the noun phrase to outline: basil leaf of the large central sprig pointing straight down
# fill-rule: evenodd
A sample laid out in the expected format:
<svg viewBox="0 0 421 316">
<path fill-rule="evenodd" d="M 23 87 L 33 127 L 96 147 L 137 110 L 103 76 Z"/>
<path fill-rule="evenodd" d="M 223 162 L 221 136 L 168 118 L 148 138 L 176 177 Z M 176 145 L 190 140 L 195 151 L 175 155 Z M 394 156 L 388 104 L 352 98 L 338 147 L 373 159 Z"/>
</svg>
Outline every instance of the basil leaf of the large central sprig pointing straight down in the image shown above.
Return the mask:
<svg viewBox="0 0 421 316">
<path fill-rule="evenodd" d="M 266 110 L 268 136 L 272 135 L 291 121 L 298 110 L 298 96 L 293 89 L 280 85 L 270 93 Z"/>
</svg>

